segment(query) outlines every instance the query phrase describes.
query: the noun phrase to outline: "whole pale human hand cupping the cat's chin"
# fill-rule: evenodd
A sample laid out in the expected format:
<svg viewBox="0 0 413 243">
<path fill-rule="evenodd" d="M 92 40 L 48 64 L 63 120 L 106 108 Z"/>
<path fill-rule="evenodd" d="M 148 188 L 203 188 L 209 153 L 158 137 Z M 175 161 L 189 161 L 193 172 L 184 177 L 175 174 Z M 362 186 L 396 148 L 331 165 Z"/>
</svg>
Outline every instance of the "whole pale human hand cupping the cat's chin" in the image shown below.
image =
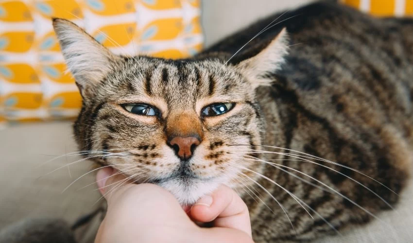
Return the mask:
<svg viewBox="0 0 413 243">
<path fill-rule="evenodd" d="M 125 183 L 112 190 L 122 179 L 123 175 L 108 167 L 97 174 L 108 208 L 95 243 L 253 243 L 248 208 L 226 186 L 185 212 L 169 191 L 153 184 Z M 212 221 L 213 227 L 202 228 L 194 221 Z"/>
</svg>

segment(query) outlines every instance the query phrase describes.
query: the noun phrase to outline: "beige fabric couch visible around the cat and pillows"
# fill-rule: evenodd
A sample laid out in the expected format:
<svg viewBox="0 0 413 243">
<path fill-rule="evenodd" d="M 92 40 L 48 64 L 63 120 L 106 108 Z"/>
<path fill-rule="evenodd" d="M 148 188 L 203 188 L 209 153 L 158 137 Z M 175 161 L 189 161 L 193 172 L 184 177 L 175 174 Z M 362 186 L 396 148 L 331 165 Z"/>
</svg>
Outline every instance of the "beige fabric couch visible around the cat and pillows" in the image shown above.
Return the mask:
<svg viewBox="0 0 413 243">
<path fill-rule="evenodd" d="M 254 19 L 306 2 L 309 0 L 204 0 L 206 46 Z M 73 222 L 96 207 L 100 195 L 95 185 L 83 188 L 94 182 L 94 173 L 86 174 L 64 191 L 88 172 L 88 161 L 59 170 L 80 158 L 64 156 L 45 163 L 76 150 L 70 121 L 24 124 L 0 131 L 0 229 L 26 217 L 62 217 Z M 413 242 L 412 205 L 413 190 L 409 189 L 396 211 L 379 215 L 385 223 L 376 221 L 345 237 L 321 242 Z"/>
</svg>

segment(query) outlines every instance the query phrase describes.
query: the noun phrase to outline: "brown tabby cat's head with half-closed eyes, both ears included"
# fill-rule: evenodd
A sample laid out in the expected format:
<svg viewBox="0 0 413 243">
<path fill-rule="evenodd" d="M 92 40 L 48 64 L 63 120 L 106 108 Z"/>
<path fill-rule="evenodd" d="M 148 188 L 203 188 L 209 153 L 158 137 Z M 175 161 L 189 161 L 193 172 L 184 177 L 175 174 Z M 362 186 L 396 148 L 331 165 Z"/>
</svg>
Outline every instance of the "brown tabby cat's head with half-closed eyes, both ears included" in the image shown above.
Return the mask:
<svg viewBox="0 0 413 243">
<path fill-rule="evenodd" d="M 67 20 L 53 26 L 83 97 L 75 137 L 81 150 L 98 151 L 93 160 L 156 183 L 182 204 L 219 184 L 239 185 L 241 168 L 257 165 L 244 159 L 261 143 L 255 89 L 283 61 L 285 31 L 234 65 L 118 56 Z"/>
</svg>

